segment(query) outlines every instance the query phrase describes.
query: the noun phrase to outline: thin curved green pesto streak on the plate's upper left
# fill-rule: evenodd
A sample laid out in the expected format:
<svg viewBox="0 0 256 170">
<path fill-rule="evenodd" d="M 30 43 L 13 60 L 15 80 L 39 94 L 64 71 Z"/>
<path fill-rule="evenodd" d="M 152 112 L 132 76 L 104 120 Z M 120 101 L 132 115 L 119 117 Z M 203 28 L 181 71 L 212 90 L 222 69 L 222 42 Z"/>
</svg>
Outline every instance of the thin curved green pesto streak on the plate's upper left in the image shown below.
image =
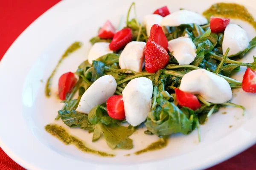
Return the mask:
<svg viewBox="0 0 256 170">
<path fill-rule="evenodd" d="M 81 42 L 74 42 L 67 48 L 67 50 L 64 52 L 64 54 L 61 56 L 61 59 L 58 61 L 58 64 L 56 65 L 55 69 L 52 71 L 52 74 L 50 77 L 47 79 L 47 83 L 45 86 L 45 95 L 49 97 L 51 95 L 51 85 L 52 85 L 52 77 L 54 76 L 55 72 L 57 71 L 57 68 L 59 65 L 61 65 L 61 62 L 63 59 L 65 59 L 69 54 L 73 53 L 77 49 L 81 47 L 82 43 Z"/>
</svg>

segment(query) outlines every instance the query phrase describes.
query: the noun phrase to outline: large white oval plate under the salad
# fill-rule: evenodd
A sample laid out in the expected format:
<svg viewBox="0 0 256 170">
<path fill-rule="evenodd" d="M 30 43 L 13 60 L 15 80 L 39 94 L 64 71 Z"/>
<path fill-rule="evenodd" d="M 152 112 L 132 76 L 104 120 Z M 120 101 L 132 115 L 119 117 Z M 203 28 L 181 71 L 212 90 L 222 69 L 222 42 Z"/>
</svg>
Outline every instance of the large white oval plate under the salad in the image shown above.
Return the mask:
<svg viewBox="0 0 256 170">
<path fill-rule="evenodd" d="M 186 8 L 202 12 L 218 0 L 140 0 L 136 2 L 137 14 L 141 19 L 156 8 L 167 5 L 170 11 Z M 191 2 L 191 3 L 190 3 Z M 245 5 L 256 16 L 256 2 L 234 0 Z M 140 156 L 127 153 L 142 149 L 157 140 L 143 130 L 133 134 L 134 149 L 111 150 L 102 139 L 91 143 L 92 134 L 80 129 L 67 129 L 75 136 L 99 150 L 117 154 L 114 158 L 102 158 L 82 153 L 74 146 L 66 146 L 44 130 L 44 126 L 54 122 L 62 104 L 53 95 L 44 96 L 45 81 L 55 67 L 65 49 L 74 41 L 83 42 L 79 51 L 73 53 L 61 64 L 53 80 L 53 91 L 57 90 L 58 77 L 67 71 L 76 71 L 79 63 L 86 59 L 90 48 L 89 39 L 96 35 L 105 20 L 116 26 L 122 15 L 126 16 L 131 0 L 64 0 L 49 9 L 29 26 L 0 63 L 0 146 L 18 164 L 26 169 L 70 170 L 81 169 L 201 169 L 224 161 L 250 147 L 256 142 L 256 105 L 253 94 L 236 91 L 233 102 L 244 105 L 246 116 L 241 109 L 227 108 L 227 114 L 211 116 L 206 125 L 201 126 L 202 142 L 198 143 L 197 132 L 188 136 L 172 135 L 163 150 Z M 247 23 L 234 21 L 243 26 L 250 38 L 255 30 Z M 252 61 L 252 54 L 244 59 Z M 244 69 L 236 75 L 241 80 Z M 44 83 L 40 82 L 43 79 Z M 61 121 L 56 122 L 64 125 Z M 233 127 L 229 127 L 232 125 Z M 65 125 L 64 125 L 65 126 Z"/>
</svg>

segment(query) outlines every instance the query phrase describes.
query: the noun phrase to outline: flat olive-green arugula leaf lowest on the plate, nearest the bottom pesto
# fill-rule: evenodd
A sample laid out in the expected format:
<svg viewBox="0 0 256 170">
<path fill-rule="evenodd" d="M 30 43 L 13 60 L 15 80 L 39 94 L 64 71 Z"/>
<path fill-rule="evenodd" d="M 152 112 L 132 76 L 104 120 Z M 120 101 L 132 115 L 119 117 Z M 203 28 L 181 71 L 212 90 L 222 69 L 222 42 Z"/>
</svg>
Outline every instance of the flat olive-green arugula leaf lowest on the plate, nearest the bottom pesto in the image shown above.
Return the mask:
<svg viewBox="0 0 256 170">
<path fill-rule="evenodd" d="M 111 149 L 114 149 L 120 142 L 122 142 L 119 147 L 124 144 L 124 140 L 128 138 L 133 133 L 133 130 L 128 129 L 128 127 L 119 126 L 116 124 L 104 125 L 99 124 L 104 138 Z M 126 141 L 130 143 L 131 141 Z"/>
</svg>

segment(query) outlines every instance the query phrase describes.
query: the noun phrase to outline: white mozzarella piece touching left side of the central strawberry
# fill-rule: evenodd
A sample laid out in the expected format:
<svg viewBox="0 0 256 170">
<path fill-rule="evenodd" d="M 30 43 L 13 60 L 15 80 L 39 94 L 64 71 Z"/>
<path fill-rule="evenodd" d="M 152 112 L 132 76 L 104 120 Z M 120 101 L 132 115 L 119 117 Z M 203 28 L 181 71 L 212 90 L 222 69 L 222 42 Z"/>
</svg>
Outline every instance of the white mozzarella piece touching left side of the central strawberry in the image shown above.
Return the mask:
<svg viewBox="0 0 256 170">
<path fill-rule="evenodd" d="M 144 48 L 145 42 L 132 41 L 129 42 L 119 57 L 119 66 L 122 69 L 130 69 L 141 72 L 145 65 Z M 130 73 L 130 71 L 127 71 Z"/>
</svg>

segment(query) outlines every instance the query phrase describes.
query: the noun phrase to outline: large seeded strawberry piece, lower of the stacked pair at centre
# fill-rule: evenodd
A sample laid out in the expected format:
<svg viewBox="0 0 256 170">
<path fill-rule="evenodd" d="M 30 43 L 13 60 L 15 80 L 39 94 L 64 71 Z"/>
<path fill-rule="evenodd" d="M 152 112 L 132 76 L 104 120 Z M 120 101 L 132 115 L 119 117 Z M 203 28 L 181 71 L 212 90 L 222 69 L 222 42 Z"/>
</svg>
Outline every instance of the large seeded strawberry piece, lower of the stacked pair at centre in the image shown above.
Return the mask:
<svg viewBox="0 0 256 170">
<path fill-rule="evenodd" d="M 154 41 L 148 40 L 145 49 L 145 69 L 148 73 L 155 73 L 164 68 L 169 62 L 167 51 Z"/>
</svg>

